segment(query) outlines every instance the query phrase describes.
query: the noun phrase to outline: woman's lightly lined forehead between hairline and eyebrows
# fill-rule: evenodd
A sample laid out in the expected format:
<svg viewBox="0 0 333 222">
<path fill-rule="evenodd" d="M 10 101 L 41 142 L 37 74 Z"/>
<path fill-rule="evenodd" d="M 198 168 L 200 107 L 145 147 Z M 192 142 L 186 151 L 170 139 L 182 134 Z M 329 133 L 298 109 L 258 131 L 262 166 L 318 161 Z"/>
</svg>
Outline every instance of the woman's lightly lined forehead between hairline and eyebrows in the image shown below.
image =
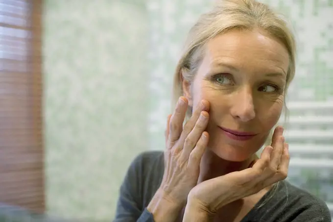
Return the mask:
<svg viewBox="0 0 333 222">
<path fill-rule="evenodd" d="M 204 61 L 211 67 L 228 64 L 238 69 L 273 69 L 286 74 L 289 56 L 282 43 L 262 32 L 233 30 L 208 42 Z"/>
</svg>

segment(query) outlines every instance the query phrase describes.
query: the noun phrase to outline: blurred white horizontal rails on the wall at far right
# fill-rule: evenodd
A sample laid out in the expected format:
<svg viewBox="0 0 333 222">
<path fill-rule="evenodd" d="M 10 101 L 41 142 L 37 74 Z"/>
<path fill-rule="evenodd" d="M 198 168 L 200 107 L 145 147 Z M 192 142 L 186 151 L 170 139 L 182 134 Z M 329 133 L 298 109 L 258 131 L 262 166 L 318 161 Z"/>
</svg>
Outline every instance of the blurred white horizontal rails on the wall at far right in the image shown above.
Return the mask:
<svg viewBox="0 0 333 222">
<path fill-rule="evenodd" d="M 288 179 L 326 201 L 333 216 L 333 102 L 290 101 L 287 107 Z"/>
</svg>

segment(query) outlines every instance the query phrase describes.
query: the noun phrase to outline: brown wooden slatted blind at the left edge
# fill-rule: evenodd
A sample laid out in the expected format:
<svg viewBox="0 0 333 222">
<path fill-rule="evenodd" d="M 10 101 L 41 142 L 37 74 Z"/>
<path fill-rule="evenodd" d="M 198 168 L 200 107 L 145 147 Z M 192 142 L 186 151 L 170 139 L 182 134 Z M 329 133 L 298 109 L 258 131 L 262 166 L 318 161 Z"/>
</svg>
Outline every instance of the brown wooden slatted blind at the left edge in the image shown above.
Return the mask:
<svg viewBox="0 0 333 222">
<path fill-rule="evenodd" d="M 0 0 L 0 202 L 44 212 L 42 0 Z"/>
</svg>

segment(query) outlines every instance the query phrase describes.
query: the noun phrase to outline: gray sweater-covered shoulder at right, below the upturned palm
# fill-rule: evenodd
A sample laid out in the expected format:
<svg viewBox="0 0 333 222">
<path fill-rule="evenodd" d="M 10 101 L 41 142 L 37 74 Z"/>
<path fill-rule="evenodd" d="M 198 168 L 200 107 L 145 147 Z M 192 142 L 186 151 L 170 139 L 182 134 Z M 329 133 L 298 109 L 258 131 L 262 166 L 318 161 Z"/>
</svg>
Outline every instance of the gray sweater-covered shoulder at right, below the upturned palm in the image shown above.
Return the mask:
<svg viewBox="0 0 333 222">
<path fill-rule="evenodd" d="M 282 181 L 258 203 L 253 217 L 267 222 L 331 222 L 326 203 L 289 182 Z M 260 220 L 261 221 L 261 220 Z"/>
</svg>

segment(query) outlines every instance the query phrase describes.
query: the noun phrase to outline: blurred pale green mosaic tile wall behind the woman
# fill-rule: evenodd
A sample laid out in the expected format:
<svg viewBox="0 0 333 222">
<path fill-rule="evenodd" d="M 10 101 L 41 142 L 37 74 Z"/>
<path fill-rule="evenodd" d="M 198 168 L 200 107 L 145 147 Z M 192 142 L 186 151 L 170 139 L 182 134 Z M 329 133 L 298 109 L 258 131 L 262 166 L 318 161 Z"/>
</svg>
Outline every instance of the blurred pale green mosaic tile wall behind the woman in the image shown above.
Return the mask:
<svg viewBox="0 0 333 222">
<path fill-rule="evenodd" d="M 291 20 L 299 56 L 290 101 L 333 102 L 333 0 L 266 0 Z M 130 161 L 164 148 L 171 79 L 206 0 L 46 0 L 47 204 L 109 220 Z"/>
</svg>

